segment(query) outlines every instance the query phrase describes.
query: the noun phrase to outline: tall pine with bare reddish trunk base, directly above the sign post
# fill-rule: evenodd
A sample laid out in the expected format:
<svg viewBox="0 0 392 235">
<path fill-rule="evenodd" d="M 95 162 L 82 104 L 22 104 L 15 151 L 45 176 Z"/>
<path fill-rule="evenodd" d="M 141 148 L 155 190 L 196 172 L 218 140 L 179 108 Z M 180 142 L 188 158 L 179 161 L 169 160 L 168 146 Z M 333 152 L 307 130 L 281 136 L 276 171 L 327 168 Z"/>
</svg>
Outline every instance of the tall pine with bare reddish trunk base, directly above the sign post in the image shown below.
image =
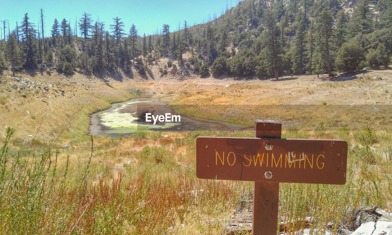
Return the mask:
<svg viewBox="0 0 392 235">
<path fill-rule="evenodd" d="M 273 71 L 275 78 L 278 79 L 281 55 L 280 32 L 276 25 L 276 14 L 268 10 L 264 15 L 265 30 L 263 34 L 264 44 L 267 50 L 267 61 L 270 70 Z"/>
</svg>

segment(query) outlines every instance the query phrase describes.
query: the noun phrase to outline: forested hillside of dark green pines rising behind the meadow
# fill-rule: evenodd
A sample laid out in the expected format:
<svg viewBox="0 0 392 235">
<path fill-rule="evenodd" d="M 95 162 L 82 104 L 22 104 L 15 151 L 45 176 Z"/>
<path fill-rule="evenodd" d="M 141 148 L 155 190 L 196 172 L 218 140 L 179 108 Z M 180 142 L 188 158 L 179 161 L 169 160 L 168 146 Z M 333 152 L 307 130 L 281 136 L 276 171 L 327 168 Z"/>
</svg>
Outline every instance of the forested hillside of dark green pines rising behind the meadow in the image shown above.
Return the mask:
<svg viewBox="0 0 392 235">
<path fill-rule="evenodd" d="M 390 64 L 391 9 L 390 0 L 377 4 L 368 0 L 245 0 L 206 23 L 192 27 L 186 21 L 178 27 L 163 24 L 161 32 L 149 36 L 138 35 L 135 25 L 125 34 L 118 17 L 105 27 L 85 13 L 80 18 L 82 37 L 64 19 L 61 23 L 55 20 L 52 37 L 44 39 L 25 14 L 22 26 L 12 31 L 7 42 L 0 42 L 0 58 L 4 58 L 0 67 L 119 79 L 133 78 L 136 73 L 144 78 L 171 73 L 180 79 L 208 74 L 331 76 Z M 178 61 L 179 71 L 172 70 L 165 58 Z M 152 71 L 154 66 L 158 68 Z"/>
</svg>

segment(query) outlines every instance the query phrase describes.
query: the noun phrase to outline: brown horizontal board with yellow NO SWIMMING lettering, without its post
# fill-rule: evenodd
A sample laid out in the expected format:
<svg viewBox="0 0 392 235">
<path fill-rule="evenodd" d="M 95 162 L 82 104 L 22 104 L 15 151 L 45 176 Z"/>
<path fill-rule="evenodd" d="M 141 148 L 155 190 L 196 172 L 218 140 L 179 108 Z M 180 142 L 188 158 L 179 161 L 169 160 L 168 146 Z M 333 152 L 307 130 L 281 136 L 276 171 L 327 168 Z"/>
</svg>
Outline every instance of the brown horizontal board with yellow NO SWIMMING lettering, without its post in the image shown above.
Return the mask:
<svg viewBox="0 0 392 235">
<path fill-rule="evenodd" d="M 196 176 L 256 182 L 345 184 L 347 142 L 198 137 Z"/>
</svg>

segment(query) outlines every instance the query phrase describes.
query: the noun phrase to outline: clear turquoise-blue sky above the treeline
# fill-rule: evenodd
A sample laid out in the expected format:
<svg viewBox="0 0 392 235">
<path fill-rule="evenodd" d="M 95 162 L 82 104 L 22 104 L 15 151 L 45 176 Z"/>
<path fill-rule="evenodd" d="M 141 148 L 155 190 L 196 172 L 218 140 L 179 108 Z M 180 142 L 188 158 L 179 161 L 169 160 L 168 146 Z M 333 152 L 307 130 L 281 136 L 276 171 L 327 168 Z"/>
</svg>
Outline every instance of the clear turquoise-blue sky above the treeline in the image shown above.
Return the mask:
<svg viewBox="0 0 392 235">
<path fill-rule="evenodd" d="M 163 24 L 169 24 L 171 32 L 178 28 L 180 21 L 181 27 L 184 20 L 191 26 L 201 23 L 203 19 L 208 20 L 214 12 L 217 17 L 221 15 L 222 9 L 230 5 L 234 7 L 238 0 L 0 0 L 0 21 L 9 20 L 11 31 L 23 20 L 24 14 L 29 13 L 30 21 L 35 25 L 40 22 L 40 9 L 44 10 L 44 33 L 45 37 L 50 35 L 54 18 L 59 22 L 65 18 L 71 22 L 74 28 L 75 17 L 82 17 L 83 12 L 91 14 L 94 21 L 105 22 L 105 29 L 113 24 L 112 18 L 118 16 L 122 18 L 125 25 L 125 32 L 129 34 L 132 23 L 136 25 L 138 34 L 143 36 L 155 34 Z M 3 28 L 3 22 L 0 22 Z M 3 31 L 3 30 L 2 30 Z M 8 34 L 6 25 L 6 34 Z M 79 29 L 78 35 L 80 36 Z M 2 36 L 4 37 L 4 36 Z"/>
</svg>

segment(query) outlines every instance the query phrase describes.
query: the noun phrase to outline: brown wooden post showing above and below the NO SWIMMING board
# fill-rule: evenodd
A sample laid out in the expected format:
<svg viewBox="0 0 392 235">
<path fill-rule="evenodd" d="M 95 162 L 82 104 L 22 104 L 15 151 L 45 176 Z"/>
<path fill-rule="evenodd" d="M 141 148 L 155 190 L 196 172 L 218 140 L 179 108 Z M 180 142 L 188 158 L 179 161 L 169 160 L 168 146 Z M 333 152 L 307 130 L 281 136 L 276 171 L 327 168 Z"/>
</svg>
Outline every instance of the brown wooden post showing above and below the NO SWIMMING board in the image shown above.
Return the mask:
<svg viewBox="0 0 392 235">
<path fill-rule="evenodd" d="M 281 138 L 278 121 L 256 120 L 254 137 Z M 278 231 L 279 183 L 254 182 L 252 235 L 276 235 Z"/>
</svg>

